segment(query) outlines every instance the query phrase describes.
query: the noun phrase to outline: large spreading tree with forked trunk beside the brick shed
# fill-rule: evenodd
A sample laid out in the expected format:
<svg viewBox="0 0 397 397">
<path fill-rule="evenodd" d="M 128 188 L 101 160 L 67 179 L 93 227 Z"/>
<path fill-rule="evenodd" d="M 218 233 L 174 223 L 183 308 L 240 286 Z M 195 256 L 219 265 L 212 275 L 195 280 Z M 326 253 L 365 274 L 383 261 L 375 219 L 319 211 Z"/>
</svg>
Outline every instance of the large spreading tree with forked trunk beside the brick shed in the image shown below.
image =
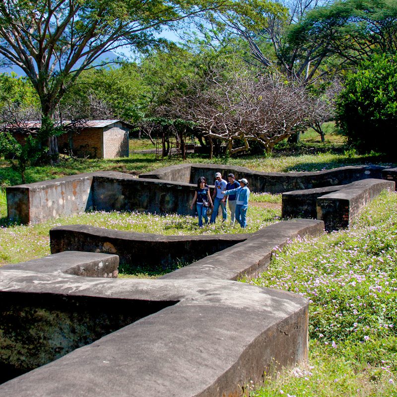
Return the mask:
<svg viewBox="0 0 397 397">
<path fill-rule="evenodd" d="M 191 0 L 2 0 L 0 55 L 23 69 L 40 99 L 48 127 L 50 155 L 58 154 L 51 134 L 57 105 L 83 70 L 122 46 L 158 45 L 154 33 L 219 3 Z"/>
</svg>

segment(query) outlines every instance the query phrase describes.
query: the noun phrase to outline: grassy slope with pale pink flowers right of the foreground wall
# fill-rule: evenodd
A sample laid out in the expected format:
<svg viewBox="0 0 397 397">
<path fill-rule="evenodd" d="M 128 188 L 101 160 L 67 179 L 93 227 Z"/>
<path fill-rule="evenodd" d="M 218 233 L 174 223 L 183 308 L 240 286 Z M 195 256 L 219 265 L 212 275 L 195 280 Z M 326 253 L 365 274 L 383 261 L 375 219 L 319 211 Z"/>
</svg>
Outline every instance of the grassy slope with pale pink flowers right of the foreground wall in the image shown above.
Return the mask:
<svg viewBox="0 0 397 397">
<path fill-rule="evenodd" d="M 381 194 L 349 230 L 275 249 L 269 269 L 245 281 L 310 300 L 309 363 L 269 376 L 251 396 L 397 396 L 396 193 Z"/>
</svg>

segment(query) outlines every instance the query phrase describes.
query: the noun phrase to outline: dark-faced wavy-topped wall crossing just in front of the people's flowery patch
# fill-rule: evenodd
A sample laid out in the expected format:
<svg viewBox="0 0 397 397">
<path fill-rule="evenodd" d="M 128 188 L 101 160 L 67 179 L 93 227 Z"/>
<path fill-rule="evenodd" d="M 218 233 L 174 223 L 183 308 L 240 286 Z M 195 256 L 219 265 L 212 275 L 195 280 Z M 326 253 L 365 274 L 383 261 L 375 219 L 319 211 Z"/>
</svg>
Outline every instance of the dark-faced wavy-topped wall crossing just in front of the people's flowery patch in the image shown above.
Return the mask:
<svg viewBox="0 0 397 397">
<path fill-rule="evenodd" d="M 86 225 L 57 226 L 50 230 L 51 253 L 86 251 L 117 254 L 121 265 L 145 268 L 191 263 L 247 240 L 247 234 L 217 236 L 162 236 L 122 232 Z"/>
</svg>

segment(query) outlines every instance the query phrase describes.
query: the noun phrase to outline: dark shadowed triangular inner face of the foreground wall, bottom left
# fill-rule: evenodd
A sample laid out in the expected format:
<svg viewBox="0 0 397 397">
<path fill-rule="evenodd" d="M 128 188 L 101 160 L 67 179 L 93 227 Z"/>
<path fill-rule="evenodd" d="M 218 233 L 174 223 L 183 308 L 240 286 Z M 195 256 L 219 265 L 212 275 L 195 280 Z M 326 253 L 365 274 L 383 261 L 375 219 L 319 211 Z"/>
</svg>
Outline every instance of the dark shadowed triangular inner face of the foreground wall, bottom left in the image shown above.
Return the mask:
<svg viewBox="0 0 397 397">
<path fill-rule="evenodd" d="M 0 292 L 0 299 L 0 383 L 168 306 L 138 300 L 18 292 Z"/>
</svg>

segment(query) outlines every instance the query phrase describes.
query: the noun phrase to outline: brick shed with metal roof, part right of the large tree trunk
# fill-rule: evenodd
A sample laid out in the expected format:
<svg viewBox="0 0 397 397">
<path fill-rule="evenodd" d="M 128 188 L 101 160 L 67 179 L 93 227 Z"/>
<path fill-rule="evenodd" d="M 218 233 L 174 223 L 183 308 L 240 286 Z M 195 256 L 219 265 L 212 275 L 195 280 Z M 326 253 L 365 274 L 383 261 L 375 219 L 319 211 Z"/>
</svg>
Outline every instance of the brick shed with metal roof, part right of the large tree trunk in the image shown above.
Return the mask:
<svg viewBox="0 0 397 397">
<path fill-rule="evenodd" d="M 129 157 L 131 125 L 122 120 L 88 120 L 79 129 L 58 136 L 59 151 L 71 148 L 77 157 Z"/>
</svg>

